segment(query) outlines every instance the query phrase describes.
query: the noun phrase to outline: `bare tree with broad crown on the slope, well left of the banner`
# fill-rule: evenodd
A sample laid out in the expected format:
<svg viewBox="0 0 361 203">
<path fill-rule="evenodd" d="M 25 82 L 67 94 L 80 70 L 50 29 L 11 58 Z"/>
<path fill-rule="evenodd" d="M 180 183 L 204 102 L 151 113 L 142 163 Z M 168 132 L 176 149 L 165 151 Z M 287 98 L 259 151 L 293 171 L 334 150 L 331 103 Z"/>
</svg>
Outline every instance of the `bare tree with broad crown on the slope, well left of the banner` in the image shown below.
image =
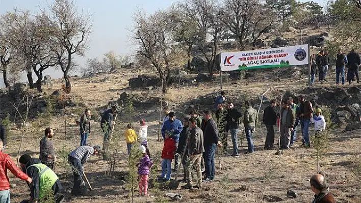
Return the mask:
<svg viewBox="0 0 361 203">
<path fill-rule="evenodd" d="M 138 44 L 137 52 L 157 69 L 159 78 L 164 83 L 162 92 L 166 93 L 171 67 L 178 51 L 172 39 L 174 15 L 165 11 L 146 15 L 138 11 L 133 21 L 133 40 Z"/>
</svg>

